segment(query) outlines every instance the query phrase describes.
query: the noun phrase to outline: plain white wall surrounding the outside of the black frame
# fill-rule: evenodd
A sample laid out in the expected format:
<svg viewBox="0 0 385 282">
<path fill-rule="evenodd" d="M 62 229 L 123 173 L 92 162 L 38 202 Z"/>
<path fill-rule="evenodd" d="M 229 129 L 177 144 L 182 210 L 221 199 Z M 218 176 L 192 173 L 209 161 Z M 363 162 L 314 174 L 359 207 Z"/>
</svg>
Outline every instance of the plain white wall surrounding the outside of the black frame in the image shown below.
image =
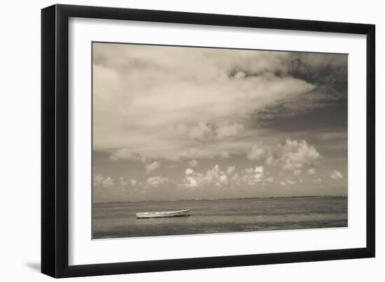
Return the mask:
<svg viewBox="0 0 385 282">
<path fill-rule="evenodd" d="M 54 1 L 3 1 L 0 44 L 0 277 L 48 281 L 40 268 L 40 9 Z M 80 278 L 77 281 L 384 281 L 385 17 L 381 1 L 62 1 L 199 13 L 377 25 L 377 258 Z M 359 114 L 359 113 L 357 113 Z M 365 118 L 363 116 L 363 118 Z M 363 148 L 364 149 L 364 148 Z M 364 161 L 364 160 L 363 160 Z"/>
</svg>

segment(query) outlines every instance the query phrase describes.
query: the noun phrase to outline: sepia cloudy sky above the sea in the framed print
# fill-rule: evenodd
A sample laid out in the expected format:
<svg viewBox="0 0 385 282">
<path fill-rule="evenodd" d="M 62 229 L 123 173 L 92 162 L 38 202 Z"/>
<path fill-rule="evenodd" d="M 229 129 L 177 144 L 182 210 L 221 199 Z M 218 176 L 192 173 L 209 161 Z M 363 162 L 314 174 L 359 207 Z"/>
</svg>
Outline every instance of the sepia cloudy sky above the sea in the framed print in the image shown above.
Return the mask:
<svg viewBox="0 0 385 282">
<path fill-rule="evenodd" d="M 347 195 L 347 54 L 92 56 L 93 202 Z"/>
</svg>

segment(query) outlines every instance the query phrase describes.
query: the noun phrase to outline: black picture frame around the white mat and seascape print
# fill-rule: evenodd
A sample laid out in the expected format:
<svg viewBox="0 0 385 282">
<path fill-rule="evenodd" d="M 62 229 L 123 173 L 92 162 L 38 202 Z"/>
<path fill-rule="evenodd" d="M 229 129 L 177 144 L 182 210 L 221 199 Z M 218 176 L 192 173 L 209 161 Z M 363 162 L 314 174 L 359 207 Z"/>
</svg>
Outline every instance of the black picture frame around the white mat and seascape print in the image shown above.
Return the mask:
<svg viewBox="0 0 385 282">
<path fill-rule="evenodd" d="M 366 247 L 175 260 L 69 265 L 69 17 L 364 34 L 366 62 Z M 343 22 L 54 5 L 41 10 L 41 272 L 52 277 L 374 258 L 375 26 Z"/>
</svg>

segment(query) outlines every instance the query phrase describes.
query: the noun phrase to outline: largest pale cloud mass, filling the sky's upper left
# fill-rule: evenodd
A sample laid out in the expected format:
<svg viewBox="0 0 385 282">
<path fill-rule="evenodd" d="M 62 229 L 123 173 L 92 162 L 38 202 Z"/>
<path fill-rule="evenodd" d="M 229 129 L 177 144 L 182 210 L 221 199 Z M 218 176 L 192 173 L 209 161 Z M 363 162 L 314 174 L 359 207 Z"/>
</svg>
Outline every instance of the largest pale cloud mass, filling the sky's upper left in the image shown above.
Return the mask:
<svg viewBox="0 0 385 282">
<path fill-rule="evenodd" d="M 316 88 L 288 52 L 97 43 L 93 56 L 93 146 L 113 161 L 246 154 L 263 133 L 251 116 Z"/>
</svg>

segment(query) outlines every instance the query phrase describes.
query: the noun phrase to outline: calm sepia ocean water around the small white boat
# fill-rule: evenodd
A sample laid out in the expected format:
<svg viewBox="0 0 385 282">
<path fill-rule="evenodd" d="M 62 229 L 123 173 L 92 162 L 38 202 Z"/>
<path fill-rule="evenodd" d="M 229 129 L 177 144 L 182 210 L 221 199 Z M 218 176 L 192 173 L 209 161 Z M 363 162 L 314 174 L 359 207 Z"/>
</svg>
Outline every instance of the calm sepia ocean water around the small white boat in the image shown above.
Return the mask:
<svg viewBox="0 0 385 282">
<path fill-rule="evenodd" d="M 137 219 L 139 211 L 191 216 Z M 347 227 L 347 197 L 109 202 L 92 205 L 93 239 Z"/>
</svg>

